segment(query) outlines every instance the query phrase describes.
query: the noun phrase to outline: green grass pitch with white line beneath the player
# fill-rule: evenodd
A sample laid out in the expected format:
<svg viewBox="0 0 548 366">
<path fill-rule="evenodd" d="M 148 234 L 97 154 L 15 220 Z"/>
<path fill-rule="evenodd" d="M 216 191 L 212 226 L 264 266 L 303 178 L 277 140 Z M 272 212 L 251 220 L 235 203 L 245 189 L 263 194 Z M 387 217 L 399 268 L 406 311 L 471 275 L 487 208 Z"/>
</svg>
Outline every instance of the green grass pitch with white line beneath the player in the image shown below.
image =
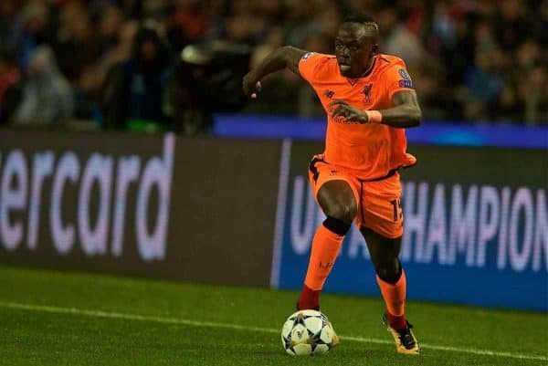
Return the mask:
<svg viewBox="0 0 548 366">
<path fill-rule="evenodd" d="M 546 314 L 409 302 L 423 353 L 403 356 L 379 299 L 324 295 L 341 346 L 296 358 L 278 331 L 295 292 L 12 267 L 0 288 L 0 365 L 548 365 Z"/>
</svg>

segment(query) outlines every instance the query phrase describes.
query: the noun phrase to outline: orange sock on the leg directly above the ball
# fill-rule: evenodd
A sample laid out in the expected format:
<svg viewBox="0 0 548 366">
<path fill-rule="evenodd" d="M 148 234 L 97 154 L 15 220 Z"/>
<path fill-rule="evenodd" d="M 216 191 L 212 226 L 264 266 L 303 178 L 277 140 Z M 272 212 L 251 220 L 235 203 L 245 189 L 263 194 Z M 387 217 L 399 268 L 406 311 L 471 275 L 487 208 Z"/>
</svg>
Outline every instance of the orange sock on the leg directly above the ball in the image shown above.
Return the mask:
<svg viewBox="0 0 548 366">
<path fill-rule="evenodd" d="M 299 298 L 299 308 L 320 306 L 320 290 L 335 264 L 343 238 L 343 235 L 333 233 L 324 225 L 320 225 L 316 230 L 312 240 L 309 267 L 304 279 L 304 289 Z"/>
</svg>

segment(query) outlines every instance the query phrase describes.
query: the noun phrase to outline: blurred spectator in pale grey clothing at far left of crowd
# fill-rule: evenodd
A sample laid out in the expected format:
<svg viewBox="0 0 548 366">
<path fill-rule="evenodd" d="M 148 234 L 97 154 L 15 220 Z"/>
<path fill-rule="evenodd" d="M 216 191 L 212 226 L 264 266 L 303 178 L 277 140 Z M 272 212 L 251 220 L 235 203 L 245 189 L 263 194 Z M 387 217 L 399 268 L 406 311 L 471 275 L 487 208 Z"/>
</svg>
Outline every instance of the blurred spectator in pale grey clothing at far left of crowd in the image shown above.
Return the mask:
<svg viewBox="0 0 548 366">
<path fill-rule="evenodd" d="M 53 51 L 37 47 L 26 68 L 21 103 L 14 113 L 16 123 L 58 123 L 72 115 L 72 90 L 58 70 Z"/>
</svg>

